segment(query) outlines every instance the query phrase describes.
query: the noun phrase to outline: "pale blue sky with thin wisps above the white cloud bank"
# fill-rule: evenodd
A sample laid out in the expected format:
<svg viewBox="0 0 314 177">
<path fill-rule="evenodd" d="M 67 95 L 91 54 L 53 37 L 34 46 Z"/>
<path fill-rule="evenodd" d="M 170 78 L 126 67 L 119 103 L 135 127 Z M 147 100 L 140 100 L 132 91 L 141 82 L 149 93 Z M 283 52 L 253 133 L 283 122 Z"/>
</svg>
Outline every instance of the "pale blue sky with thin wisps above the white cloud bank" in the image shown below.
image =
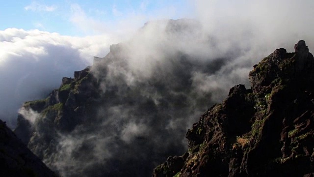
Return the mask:
<svg viewBox="0 0 314 177">
<path fill-rule="evenodd" d="M 189 0 L 3 0 L 0 30 L 39 29 L 85 36 L 139 28 L 154 19 L 193 18 Z M 128 22 L 126 23 L 126 22 Z"/>
</svg>

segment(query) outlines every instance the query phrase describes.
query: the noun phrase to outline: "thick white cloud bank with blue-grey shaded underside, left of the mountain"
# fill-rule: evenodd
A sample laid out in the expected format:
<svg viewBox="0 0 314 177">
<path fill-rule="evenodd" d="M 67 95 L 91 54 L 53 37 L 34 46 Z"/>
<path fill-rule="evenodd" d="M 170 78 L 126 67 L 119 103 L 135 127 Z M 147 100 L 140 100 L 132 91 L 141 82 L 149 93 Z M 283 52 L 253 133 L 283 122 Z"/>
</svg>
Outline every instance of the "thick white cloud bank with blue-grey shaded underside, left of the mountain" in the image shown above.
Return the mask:
<svg viewBox="0 0 314 177">
<path fill-rule="evenodd" d="M 22 103 L 46 97 L 63 76 L 104 56 L 117 39 L 111 36 L 71 37 L 40 30 L 0 31 L 0 118 L 13 128 Z M 5 101 L 4 101 L 5 100 Z"/>
</svg>

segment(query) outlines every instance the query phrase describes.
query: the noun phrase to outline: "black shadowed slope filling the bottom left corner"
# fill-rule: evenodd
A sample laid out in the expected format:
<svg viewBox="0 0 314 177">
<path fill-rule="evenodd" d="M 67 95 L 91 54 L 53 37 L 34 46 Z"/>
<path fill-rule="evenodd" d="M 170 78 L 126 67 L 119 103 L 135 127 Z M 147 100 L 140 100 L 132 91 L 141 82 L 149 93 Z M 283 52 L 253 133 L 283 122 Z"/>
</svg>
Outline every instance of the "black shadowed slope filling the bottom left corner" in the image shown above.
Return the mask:
<svg viewBox="0 0 314 177">
<path fill-rule="evenodd" d="M 56 177 L 56 175 L 0 120 L 0 176 Z"/>
</svg>

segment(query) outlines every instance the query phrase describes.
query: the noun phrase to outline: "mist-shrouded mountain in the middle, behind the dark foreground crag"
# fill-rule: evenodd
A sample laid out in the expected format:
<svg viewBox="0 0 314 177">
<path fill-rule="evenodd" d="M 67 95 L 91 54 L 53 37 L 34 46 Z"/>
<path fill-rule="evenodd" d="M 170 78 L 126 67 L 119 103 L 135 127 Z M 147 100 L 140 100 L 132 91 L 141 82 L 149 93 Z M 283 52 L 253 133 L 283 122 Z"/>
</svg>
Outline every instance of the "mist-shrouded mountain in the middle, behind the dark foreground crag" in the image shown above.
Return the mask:
<svg viewBox="0 0 314 177">
<path fill-rule="evenodd" d="M 151 175 L 187 149 L 188 125 L 227 91 L 203 78 L 229 58 L 206 56 L 200 46 L 211 44 L 191 22 L 148 23 L 110 46 L 47 98 L 26 102 L 16 134 L 61 176 Z"/>
</svg>

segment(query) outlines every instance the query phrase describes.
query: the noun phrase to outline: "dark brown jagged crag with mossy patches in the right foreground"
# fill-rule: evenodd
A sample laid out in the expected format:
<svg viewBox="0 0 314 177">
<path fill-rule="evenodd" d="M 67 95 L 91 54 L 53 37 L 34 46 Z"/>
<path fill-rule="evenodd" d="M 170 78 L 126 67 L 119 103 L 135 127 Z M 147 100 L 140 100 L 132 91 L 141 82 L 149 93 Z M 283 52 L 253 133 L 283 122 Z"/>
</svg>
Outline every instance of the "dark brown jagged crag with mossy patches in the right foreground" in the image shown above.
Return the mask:
<svg viewBox="0 0 314 177">
<path fill-rule="evenodd" d="M 249 76 L 251 89 L 235 86 L 188 130 L 182 168 L 165 163 L 154 177 L 314 173 L 314 58 L 305 42 L 295 45 L 295 53 L 275 50 Z"/>
</svg>

